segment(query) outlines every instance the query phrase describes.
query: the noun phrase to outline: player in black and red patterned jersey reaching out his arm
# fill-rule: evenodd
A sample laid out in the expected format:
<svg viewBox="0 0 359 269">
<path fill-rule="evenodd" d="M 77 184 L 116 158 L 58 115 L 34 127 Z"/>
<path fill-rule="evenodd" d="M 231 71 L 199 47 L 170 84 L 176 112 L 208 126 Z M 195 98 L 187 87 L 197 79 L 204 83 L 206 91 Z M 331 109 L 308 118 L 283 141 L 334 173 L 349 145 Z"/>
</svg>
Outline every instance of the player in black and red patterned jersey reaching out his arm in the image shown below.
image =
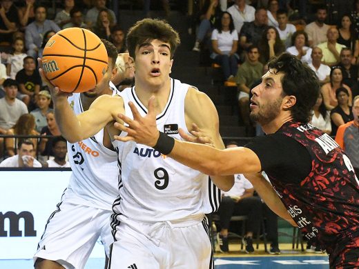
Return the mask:
<svg viewBox="0 0 359 269">
<path fill-rule="evenodd" d="M 274 212 L 307 239 L 318 238 L 331 268 L 358 268 L 359 181 L 338 144 L 308 123 L 319 88 L 314 72 L 284 53 L 269 62 L 262 83 L 252 90 L 251 119 L 266 136 L 227 150 L 177 141 L 155 128 L 150 99 L 146 117 L 132 103 L 133 120 L 119 115 L 129 126 L 115 126 L 128 136 L 115 138 L 152 146 L 208 175 L 245 173 Z"/>
</svg>

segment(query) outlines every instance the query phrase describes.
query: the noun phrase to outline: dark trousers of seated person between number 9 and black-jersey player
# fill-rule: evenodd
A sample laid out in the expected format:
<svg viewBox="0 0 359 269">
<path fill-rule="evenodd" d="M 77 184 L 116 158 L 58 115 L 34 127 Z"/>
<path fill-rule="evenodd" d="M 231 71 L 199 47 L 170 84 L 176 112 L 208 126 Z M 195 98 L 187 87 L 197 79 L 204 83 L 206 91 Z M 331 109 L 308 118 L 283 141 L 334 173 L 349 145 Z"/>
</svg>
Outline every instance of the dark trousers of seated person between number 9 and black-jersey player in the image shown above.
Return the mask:
<svg viewBox="0 0 359 269">
<path fill-rule="evenodd" d="M 228 229 L 232 216 L 248 216 L 246 232 L 255 234 L 260 230 L 262 221 L 262 201 L 260 197 L 247 197 L 237 203 L 231 197 L 222 197 L 220 208 L 220 224 L 222 229 Z"/>
</svg>

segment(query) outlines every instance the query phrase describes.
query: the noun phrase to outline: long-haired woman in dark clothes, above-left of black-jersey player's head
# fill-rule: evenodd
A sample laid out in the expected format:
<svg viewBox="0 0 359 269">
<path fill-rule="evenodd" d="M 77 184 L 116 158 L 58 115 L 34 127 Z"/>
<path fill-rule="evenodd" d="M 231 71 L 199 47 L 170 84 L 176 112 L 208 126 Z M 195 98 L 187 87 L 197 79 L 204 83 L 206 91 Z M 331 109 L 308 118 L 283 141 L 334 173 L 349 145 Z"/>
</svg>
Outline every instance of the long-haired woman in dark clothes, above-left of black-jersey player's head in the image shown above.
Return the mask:
<svg viewBox="0 0 359 269">
<path fill-rule="evenodd" d="M 260 62 L 263 64 L 285 51 L 285 46 L 280 40 L 278 30 L 274 26 L 268 26 L 264 30 L 258 48 L 260 49 Z"/>
</svg>

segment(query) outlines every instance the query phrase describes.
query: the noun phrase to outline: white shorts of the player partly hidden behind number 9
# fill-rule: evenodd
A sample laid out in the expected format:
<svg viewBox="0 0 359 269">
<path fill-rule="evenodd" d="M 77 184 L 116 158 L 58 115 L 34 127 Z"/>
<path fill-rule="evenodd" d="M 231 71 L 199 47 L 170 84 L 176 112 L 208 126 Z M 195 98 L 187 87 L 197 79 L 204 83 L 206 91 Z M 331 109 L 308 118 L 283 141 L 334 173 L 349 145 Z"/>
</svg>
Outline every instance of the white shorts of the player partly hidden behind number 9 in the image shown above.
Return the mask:
<svg viewBox="0 0 359 269">
<path fill-rule="evenodd" d="M 37 258 L 57 261 L 66 269 L 85 267 L 97 239 L 101 239 L 109 255 L 113 235 L 110 228 L 110 210 L 92 208 L 61 201 L 57 205 L 38 244 Z"/>
</svg>

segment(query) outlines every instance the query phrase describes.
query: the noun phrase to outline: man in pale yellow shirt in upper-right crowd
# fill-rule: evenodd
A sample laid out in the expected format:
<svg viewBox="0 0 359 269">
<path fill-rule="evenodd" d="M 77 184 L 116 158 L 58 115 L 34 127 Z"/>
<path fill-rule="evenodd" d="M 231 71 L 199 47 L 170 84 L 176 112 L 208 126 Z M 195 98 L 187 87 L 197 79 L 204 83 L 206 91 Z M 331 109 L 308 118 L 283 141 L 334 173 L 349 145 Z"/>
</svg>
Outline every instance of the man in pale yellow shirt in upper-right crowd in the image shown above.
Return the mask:
<svg viewBox="0 0 359 269">
<path fill-rule="evenodd" d="M 340 61 L 340 51 L 345 48 L 344 45 L 337 42 L 339 34 L 338 29 L 331 27 L 327 32 L 327 41 L 320 43 L 318 48 L 322 49 L 322 62 L 327 66 L 335 66 Z"/>
</svg>

